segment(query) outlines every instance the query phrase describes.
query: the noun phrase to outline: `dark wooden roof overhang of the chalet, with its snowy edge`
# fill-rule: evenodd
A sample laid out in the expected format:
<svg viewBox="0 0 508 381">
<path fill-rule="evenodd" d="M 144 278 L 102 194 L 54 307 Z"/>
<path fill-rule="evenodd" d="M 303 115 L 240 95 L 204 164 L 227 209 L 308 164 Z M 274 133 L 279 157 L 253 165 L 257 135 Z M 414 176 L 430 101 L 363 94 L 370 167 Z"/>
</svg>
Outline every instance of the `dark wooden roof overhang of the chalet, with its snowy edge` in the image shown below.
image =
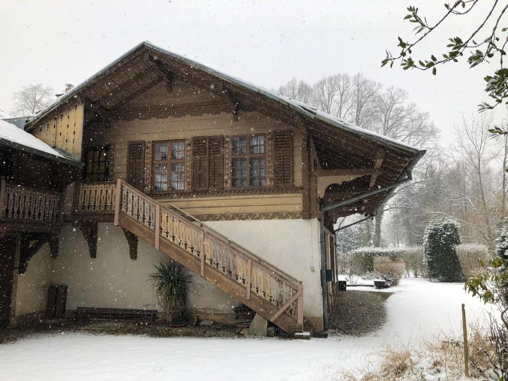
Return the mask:
<svg viewBox="0 0 508 381">
<path fill-rule="evenodd" d="M 161 65 L 163 66 L 162 70 Z M 129 75 L 125 75 L 123 68 L 129 68 Z M 331 137 L 331 140 L 326 143 L 330 144 L 329 150 L 331 147 L 331 149 L 338 152 L 344 149 L 344 142 L 346 144 L 350 144 L 349 142 L 353 141 L 356 142 L 356 152 L 355 149 L 350 149 L 348 152 L 351 153 L 351 157 L 346 157 L 346 153 L 341 153 L 343 163 L 340 164 L 337 161 L 334 164 L 336 168 L 352 168 L 351 166 L 355 164 L 358 167 L 367 168 L 372 161 L 375 161 L 375 158 L 371 157 L 373 151 L 385 149 L 387 152 L 385 164 L 379 170 L 380 175 L 377 176 L 376 183 L 381 186 L 386 186 L 402 179 L 404 173 L 411 171 L 425 154 L 424 149 L 359 128 L 352 123 L 317 110 L 310 105 L 211 69 L 199 62 L 146 41 L 136 45 L 108 66 L 29 118 L 25 129 L 33 129 L 37 121 L 56 111 L 60 106 L 73 103 L 77 97 L 88 100 L 89 104 L 108 112 L 115 108 L 115 103 L 118 105 L 117 101 L 121 97 L 129 98 L 136 91 L 142 90 L 152 82 L 155 83 L 157 76 L 164 76 L 165 69 L 174 73 L 176 78 L 182 80 L 194 79 L 200 84 L 207 86 L 207 88 L 215 88 L 215 93 L 221 97 L 225 95 L 228 97 L 229 92 L 235 97 L 249 97 L 256 105 L 262 105 L 265 110 L 271 110 L 281 118 L 303 120 L 306 122 L 306 125 L 311 126 L 308 128 L 311 139 L 318 141 L 324 135 L 328 135 L 328 138 Z M 114 80 L 110 80 L 111 78 Z M 210 86 L 216 84 L 218 86 Z M 133 87 L 132 90 L 131 87 Z M 118 99 L 113 100 L 115 97 Z M 316 149 L 316 151 L 319 151 L 319 154 L 325 155 L 323 153 L 325 150 L 322 152 Z M 333 156 L 333 154 L 334 152 L 331 152 L 330 156 Z M 390 191 L 370 197 L 370 205 L 365 209 L 364 214 L 372 214 L 380 204 L 390 197 L 393 191 L 394 189 L 391 189 Z"/>
</svg>

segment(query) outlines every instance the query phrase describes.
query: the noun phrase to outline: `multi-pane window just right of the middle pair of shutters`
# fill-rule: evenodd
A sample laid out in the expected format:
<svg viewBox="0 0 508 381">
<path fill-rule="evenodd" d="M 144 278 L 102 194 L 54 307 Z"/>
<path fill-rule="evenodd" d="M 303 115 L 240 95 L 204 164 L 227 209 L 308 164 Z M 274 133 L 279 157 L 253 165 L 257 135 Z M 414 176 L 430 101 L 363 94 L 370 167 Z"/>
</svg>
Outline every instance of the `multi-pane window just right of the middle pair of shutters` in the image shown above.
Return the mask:
<svg viewBox="0 0 508 381">
<path fill-rule="evenodd" d="M 266 186 L 265 135 L 234 136 L 231 142 L 231 185 Z"/>
</svg>

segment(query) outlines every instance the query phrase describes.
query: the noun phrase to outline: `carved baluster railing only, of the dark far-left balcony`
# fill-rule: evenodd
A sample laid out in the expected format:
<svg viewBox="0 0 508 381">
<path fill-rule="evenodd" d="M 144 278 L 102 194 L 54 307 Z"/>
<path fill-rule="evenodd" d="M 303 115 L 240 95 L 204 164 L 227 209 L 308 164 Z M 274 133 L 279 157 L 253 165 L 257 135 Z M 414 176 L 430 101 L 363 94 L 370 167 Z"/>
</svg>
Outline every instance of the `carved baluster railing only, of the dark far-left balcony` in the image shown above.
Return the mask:
<svg viewBox="0 0 508 381">
<path fill-rule="evenodd" d="M 0 180 L 0 220 L 20 223 L 61 222 L 62 195 Z"/>
</svg>

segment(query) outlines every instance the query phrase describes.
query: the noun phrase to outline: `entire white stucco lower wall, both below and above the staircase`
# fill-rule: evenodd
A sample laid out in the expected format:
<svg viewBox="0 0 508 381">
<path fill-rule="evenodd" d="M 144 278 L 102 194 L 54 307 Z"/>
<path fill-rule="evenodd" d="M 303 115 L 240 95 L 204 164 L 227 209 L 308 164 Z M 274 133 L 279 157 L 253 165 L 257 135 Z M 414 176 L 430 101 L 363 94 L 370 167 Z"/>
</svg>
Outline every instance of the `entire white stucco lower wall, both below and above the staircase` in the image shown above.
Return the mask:
<svg viewBox="0 0 508 381">
<path fill-rule="evenodd" d="M 302 280 L 304 315 L 323 316 L 317 220 L 214 221 L 208 225 Z M 50 283 L 68 285 L 69 310 L 92 306 L 164 310 L 147 275 L 153 272 L 154 264 L 168 257 L 140 239 L 138 259 L 131 260 L 121 228 L 99 224 L 97 258 L 90 258 L 83 235 L 70 224 L 65 224 L 60 232 L 58 259 L 51 259 L 46 246 L 30 261 L 26 275 L 20 277 L 20 314 L 45 309 Z M 238 304 L 199 275 L 193 275 L 191 308 L 232 314 L 232 307 Z"/>
</svg>

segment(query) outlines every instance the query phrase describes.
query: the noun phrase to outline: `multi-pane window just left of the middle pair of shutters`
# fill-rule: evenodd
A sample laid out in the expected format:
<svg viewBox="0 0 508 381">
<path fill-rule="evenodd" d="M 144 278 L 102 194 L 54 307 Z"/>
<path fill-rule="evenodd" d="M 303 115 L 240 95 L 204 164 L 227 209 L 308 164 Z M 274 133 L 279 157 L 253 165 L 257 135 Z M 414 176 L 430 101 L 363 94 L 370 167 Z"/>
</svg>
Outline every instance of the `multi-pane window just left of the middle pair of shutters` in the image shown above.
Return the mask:
<svg viewBox="0 0 508 381">
<path fill-rule="evenodd" d="M 168 189 L 184 190 L 184 160 L 185 143 L 183 140 L 154 143 L 153 189 L 156 192 L 167 192 Z"/>
</svg>

